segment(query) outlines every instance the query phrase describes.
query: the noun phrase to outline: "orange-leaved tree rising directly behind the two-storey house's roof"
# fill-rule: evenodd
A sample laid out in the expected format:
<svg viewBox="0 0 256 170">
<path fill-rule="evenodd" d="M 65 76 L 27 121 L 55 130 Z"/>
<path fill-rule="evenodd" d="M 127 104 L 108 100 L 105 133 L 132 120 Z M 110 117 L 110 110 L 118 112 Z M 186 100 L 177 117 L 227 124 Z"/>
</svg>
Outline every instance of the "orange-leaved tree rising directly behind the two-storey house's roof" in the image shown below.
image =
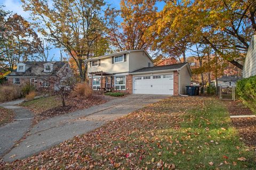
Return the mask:
<svg viewBox="0 0 256 170">
<path fill-rule="evenodd" d="M 111 11 L 113 18 L 121 16 L 119 24 L 111 20 L 110 41 L 118 50 L 148 49 L 151 42 L 145 39 L 146 30 L 154 24 L 156 1 L 121 0 L 121 10 Z"/>
</svg>

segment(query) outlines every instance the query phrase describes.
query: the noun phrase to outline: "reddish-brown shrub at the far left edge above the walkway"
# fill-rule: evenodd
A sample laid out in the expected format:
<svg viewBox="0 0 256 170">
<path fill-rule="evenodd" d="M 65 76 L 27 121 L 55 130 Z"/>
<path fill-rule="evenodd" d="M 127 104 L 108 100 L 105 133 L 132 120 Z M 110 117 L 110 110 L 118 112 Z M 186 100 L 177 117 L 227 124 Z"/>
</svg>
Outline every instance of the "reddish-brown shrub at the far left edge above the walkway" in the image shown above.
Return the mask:
<svg viewBox="0 0 256 170">
<path fill-rule="evenodd" d="M 21 98 L 21 88 L 13 85 L 0 86 L 0 101 L 10 101 Z"/>
</svg>

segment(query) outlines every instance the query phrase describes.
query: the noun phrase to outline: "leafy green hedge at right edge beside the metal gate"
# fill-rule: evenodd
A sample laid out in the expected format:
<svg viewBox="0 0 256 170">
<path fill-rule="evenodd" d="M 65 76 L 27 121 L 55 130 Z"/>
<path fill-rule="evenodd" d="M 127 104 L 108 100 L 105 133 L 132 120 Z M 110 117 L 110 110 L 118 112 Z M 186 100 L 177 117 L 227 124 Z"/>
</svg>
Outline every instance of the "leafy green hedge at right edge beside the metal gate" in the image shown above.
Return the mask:
<svg viewBox="0 0 256 170">
<path fill-rule="evenodd" d="M 256 113 L 256 75 L 239 80 L 236 84 L 236 94 L 247 107 Z"/>
</svg>

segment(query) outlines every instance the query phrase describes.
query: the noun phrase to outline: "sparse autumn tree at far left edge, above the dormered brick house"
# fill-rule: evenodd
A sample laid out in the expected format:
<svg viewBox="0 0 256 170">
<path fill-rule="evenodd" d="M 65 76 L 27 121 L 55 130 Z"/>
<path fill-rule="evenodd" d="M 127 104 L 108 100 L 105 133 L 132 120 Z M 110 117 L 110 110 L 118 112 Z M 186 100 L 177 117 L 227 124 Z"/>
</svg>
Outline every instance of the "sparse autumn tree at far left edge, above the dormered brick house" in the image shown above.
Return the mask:
<svg viewBox="0 0 256 170">
<path fill-rule="evenodd" d="M 1 10 L 1 66 L 13 70 L 29 60 L 38 48 L 39 38 L 28 21 L 18 14 Z"/>
</svg>

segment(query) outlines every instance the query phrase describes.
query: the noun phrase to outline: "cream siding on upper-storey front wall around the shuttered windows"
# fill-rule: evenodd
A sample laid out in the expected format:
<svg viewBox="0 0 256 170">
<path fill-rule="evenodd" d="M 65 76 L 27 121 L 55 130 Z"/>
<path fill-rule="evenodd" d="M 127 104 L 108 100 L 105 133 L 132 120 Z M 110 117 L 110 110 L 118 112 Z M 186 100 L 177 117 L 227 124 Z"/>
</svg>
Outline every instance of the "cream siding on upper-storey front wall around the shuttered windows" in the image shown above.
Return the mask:
<svg viewBox="0 0 256 170">
<path fill-rule="evenodd" d="M 118 56 L 118 55 L 117 55 Z M 88 72 L 103 71 L 107 73 L 123 73 L 129 72 L 129 55 L 126 54 L 126 62 L 112 64 L 112 57 L 102 58 L 100 60 L 100 66 L 90 66 L 90 62 L 87 62 L 89 68 Z"/>
</svg>

